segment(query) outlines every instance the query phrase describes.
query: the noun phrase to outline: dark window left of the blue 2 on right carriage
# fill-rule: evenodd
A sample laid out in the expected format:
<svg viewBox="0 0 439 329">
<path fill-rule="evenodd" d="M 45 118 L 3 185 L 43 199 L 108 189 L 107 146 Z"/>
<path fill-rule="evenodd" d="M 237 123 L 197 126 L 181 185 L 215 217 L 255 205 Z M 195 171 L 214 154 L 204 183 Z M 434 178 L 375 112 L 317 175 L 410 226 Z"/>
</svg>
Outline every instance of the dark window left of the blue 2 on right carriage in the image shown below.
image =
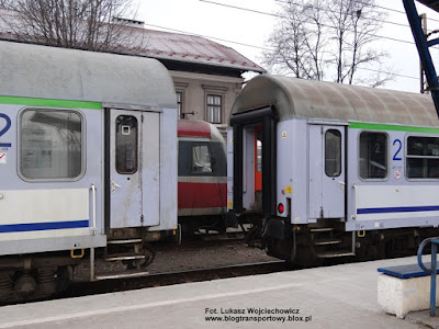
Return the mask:
<svg viewBox="0 0 439 329">
<path fill-rule="evenodd" d="M 387 177 L 387 135 L 362 132 L 360 134 L 360 178 Z"/>
</svg>

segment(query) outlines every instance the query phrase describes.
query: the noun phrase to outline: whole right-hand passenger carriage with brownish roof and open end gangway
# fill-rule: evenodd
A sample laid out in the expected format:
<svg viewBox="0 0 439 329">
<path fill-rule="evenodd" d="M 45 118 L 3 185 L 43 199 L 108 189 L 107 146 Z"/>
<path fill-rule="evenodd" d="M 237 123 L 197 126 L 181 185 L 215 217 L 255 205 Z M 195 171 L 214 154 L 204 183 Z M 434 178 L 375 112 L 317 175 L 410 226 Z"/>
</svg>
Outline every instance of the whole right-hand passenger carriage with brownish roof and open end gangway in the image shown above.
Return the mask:
<svg viewBox="0 0 439 329">
<path fill-rule="evenodd" d="M 259 76 L 233 106 L 228 209 L 286 260 L 389 257 L 438 234 L 429 95 Z"/>
</svg>

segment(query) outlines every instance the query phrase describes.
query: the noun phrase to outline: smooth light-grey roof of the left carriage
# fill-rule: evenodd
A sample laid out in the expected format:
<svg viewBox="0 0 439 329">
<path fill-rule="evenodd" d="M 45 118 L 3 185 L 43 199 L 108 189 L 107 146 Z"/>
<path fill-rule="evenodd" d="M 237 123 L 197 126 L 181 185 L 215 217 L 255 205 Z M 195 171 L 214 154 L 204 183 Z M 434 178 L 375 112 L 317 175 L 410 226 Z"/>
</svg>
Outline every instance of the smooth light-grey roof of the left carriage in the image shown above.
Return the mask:
<svg viewBox="0 0 439 329">
<path fill-rule="evenodd" d="M 0 97 L 177 106 L 156 59 L 12 42 L 0 42 Z"/>
</svg>

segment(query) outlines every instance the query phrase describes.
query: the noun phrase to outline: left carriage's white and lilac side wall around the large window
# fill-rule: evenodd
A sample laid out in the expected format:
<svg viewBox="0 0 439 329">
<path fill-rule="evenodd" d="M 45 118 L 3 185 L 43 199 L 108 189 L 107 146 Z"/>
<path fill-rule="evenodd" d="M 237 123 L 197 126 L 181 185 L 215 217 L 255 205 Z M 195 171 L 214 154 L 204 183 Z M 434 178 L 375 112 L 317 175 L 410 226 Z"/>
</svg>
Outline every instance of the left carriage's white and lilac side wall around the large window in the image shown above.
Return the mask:
<svg viewBox="0 0 439 329">
<path fill-rule="evenodd" d="M 0 225 L 24 225 L 21 231 L 12 231 L 3 227 L 0 232 L 0 254 L 18 254 L 30 252 L 44 252 L 54 250 L 70 250 L 77 248 L 102 247 L 106 243 L 103 235 L 103 141 L 102 141 L 102 111 L 97 109 L 71 109 L 82 113 L 85 118 L 85 151 L 87 152 L 85 175 L 75 181 L 25 181 L 18 174 L 18 140 L 20 132 L 20 113 L 25 107 L 67 110 L 65 101 L 54 104 L 54 101 L 44 106 L 45 100 L 18 98 L 22 105 L 0 104 L 0 113 L 11 120 L 11 126 L 2 136 L 0 144 L 8 144 L 9 147 L 0 146 L 0 152 L 7 154 L 7 161 L 0 163 Z M 87 104 L 87 102 L 85 103 Z M 70 110 L 70 109 L 69 109 Z M 4 128 L 4 120 L 0 118 L 0 129 Z M 18 131 L 19 129 L 19 131 Z M 94 184 L 95 193 L 90 190 Z M 86 202 L 82 202 L 86 200 Z M 93 213 L 92 205 L 95 205 Z M 3 211 L 4 209 L 4 211 Z M 24 215 L 23 215 L 24 214 Z M 95 214 L 95 229 L 92 230 L 93 214 Z M 25 217 L 23 217 L 25 216 Z M 19 220 L 22 218 L 22 220 Z M 19 222 L 18 222 L 19 220 Z M 29 222 L 26 222 L 29 220 Z M 50 222 L 53 220 L 53 222 Z M 58 222 L 57 222 L 58 220 Z M 41 223 L 87 220 L 79 228 L 63 229 L 40 229 L 34 230 L 30 225 Z M 27 225 L 27 226 L 26 226 Z M 87 227 L 86 227 L 87 226 Z M 89 228 L 90 227 L 90 228 Z M 16 228 L 16 227 L 15 227 Z M 25 230 L 27 229 L 27 230 Z M 8 231 L 5 231 L 8 230 Z M 95 235 L 93 235 L 93 232 Z"/>
</svg>

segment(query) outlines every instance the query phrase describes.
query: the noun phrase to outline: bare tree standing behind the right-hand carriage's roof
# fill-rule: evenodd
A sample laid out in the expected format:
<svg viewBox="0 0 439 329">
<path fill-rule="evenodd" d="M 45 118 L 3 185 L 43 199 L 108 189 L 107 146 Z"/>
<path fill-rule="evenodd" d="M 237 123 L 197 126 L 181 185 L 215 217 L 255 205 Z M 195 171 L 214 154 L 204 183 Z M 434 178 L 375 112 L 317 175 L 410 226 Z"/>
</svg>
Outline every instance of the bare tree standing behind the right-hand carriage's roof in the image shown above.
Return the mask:
<svg viewBox="0 0 439 329">
<path fill-rule="evenodd" d="M 263 54 L 273 72 L 339 83 L 382 86 L 383 50 L 372 48 L 385 14 L 374 0 L 288 0 Z M 359 75 L 358 69 L 374 71 Z M 387 71 L 390 69 L 387 68 Z"/>
</svg>

